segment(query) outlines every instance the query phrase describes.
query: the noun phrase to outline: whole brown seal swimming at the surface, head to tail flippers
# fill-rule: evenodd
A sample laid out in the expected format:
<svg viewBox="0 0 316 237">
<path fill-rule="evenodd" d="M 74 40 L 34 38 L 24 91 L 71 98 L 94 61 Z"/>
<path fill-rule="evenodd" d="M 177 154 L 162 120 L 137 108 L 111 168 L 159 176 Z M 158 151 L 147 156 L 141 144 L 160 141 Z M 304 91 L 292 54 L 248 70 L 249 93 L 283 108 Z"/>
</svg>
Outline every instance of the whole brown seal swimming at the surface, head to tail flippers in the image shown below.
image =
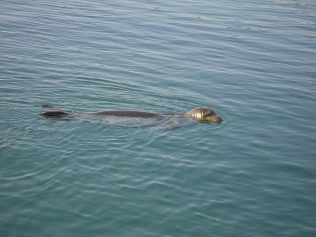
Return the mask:
<svg viewBox="0 0 316 237">
<path fill-rule="evenodd" d="M 207 107 L 197 107 L 183 115 L 164 115 L 152 112 L 133 111 L 133 110 L 108 110 L 98 112 L 68 112 L 65 110 L 57 109 L 52 106 L 42 105 L 43 109 L 49 111 L 40 113 L 45 117 L 56 117 L 56 116 L 68 116 L 74 115 L 91 115 L 91 116 L 116 116 L 116 117 L 139 117 L 139 118 L 165 118 L 169 117 L 189 117 L 199 122 L 220 122 L 222 118 L 216 115 L 215 111 Z"/>
</svg>

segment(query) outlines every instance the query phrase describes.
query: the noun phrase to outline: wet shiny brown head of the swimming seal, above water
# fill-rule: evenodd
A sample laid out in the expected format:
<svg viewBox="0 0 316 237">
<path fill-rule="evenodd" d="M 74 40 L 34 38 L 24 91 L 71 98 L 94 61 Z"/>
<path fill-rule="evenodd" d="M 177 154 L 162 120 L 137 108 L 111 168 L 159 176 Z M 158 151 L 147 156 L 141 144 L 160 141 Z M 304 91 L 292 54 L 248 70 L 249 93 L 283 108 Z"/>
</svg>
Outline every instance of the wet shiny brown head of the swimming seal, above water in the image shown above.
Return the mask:
<svg viewBox="0 0 316 237">
<path fill-rule="evenodd" d="M 200 122 L 220 122 L 223 119 L 216 115 L 215 111 L 206 107 L 197 107 L 185 115 Z"/>
</svg>

